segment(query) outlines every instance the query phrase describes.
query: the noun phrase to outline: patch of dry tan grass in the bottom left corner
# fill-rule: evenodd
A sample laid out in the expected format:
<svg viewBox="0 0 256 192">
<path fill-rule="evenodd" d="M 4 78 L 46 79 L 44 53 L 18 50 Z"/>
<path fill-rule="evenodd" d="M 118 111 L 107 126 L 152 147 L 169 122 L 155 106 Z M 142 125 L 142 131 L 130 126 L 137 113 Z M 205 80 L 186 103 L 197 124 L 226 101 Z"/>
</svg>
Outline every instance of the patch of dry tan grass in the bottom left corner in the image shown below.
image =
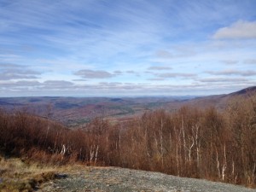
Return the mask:
<svg viewBox="0 0 256 192">
<path fill-rule="evenodd" d="M 68 167 L 66 166 L 65 169 Z M 58 177 L 61 166 L 43 166 L 0 155 L 0 191 L 33 191 L 39 184 Z"/>
</svg>

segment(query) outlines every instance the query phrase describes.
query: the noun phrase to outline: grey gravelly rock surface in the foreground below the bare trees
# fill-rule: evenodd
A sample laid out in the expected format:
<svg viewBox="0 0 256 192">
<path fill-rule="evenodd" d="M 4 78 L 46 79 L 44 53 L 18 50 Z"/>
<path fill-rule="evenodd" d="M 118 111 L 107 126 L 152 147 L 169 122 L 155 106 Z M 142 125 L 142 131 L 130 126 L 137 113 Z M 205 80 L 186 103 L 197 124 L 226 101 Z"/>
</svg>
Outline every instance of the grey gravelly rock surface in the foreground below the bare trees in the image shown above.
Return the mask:
<svg viewBox="0 0 256 192">
<path fill-rule="evenodd" d="M 97 191 L 97 192 L 256 192 L 242 186 L 209 182 L 202 179 L 174 177 L 159 172 L 144 172 L 118 167 L 76 167 L 44 183 L 39 192 Z"/>
</svg>

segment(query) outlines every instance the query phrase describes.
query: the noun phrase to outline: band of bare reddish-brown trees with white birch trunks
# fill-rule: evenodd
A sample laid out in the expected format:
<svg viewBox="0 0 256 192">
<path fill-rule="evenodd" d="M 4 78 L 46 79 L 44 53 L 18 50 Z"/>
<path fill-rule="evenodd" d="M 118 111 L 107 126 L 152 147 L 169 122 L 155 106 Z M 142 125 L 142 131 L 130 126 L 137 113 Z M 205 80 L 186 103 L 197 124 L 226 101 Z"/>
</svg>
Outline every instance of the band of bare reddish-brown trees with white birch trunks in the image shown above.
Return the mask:
<svg viewBox="0 0 256 192">
<path fill-rule="evenodd" d="M 43 163 L 121 166 L 255 187 L 256 96 L 228 108 L 185 106 L 124 122 L 94 119 L 79 130 L 25 112 L 0 113 L 5 154 Z"/>
</svg>

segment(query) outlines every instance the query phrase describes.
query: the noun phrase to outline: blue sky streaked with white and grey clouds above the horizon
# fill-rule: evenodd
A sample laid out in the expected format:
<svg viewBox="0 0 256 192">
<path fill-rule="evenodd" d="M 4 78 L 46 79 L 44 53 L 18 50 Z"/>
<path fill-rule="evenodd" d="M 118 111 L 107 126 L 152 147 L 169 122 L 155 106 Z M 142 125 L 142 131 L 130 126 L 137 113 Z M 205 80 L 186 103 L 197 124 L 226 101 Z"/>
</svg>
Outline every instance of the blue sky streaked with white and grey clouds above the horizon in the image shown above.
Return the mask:
<svg viewBox="0 0 256 192">
<path fill-rule="evenodd" d="M 255 0 L 0 0 L 0 97 L 256 85 Z"/>
</svg>

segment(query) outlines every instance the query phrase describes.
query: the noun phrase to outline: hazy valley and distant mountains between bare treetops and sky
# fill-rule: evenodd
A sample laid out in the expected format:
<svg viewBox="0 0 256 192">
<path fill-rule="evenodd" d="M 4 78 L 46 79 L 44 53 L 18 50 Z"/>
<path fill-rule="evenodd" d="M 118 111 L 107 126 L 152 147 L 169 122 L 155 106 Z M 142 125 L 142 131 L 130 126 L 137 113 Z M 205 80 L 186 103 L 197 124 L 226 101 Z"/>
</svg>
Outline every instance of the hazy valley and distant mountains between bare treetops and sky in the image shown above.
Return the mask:
<svg viewBox="0 0 256 192">
<path fill-rule="evenodd" d="M 251 96 L 256 86 L 230 94 L 216 96 L 144 96 L 144 97 L 13 97 L 1 98 L 0 108 L 12 112 L 26 110 L 39 116 L 58 120 L 68 126 L 83 125 L 96 117 L 113 120 L 128 119 L 148 110 L 158 108 L 173 112 L 183 105 L 196 108 L 226 108 L 230 99 L 236 96 Z"/>
</svg>

